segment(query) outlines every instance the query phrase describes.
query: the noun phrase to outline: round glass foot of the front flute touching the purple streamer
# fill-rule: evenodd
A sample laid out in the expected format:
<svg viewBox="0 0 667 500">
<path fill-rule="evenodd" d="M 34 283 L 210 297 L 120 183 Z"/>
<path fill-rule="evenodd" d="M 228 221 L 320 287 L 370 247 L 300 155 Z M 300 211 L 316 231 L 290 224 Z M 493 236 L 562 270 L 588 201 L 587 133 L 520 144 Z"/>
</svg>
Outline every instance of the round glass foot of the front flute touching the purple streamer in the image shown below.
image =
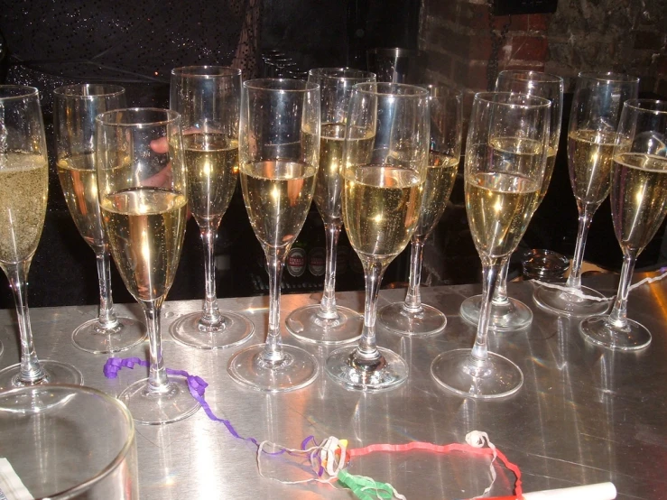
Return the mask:
<svg viewBox="0 0 667 500">
<path fill-rule="evenodd" d="M 144 425 L 161 425 L 180 421 L 199 410 L 185 377 L 170 375 L 167 390 L 155 393 L 148 390 L 148 379 L 137 380 L 123 391 L 118 399 L 132 413 L 134 421 Z"/>
</svg>

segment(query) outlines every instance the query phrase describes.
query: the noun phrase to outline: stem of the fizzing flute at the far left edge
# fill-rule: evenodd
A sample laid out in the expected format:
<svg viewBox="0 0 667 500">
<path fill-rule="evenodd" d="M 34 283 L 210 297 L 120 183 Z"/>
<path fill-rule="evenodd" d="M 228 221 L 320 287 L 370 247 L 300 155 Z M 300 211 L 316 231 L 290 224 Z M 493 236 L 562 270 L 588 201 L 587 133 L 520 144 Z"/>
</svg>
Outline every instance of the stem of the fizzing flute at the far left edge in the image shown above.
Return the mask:
<svg viewBox="0 0 667 500">
<path fill-rule="evenodd" d="M 14 293 L 16 314 L 19 320 L 19 333 L 21 335 L 21 370 L 18 382 L 21 384 L 36 384 L 45 377 L 40 361 L 32 343 L 32 329 L 30 327 L 30 312 L 28 311 L 28 270 L 30 261 L 16 264 L 5 264 L 5 272 L 9 285 Z"/>
</svg>

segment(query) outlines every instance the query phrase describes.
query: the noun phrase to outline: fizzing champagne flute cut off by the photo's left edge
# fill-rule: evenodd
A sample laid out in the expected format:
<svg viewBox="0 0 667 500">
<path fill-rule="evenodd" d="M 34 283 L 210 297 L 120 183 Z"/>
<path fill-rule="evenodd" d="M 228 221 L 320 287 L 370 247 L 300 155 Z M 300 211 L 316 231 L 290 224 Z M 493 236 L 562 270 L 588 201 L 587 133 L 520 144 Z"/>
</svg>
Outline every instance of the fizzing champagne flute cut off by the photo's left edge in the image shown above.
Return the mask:
<svg viewBox="0 0 667 500">
<path fill-rule="evenodd" d="M 28 271 L 42 236 L 49 192 L 49 162 L 36 88 L 0 86 L 0 267 L 14 293 L 21 362 L 0 370 L 0 390 L 25 385 L 83 384 L 74 366 L 38 359 L 28 310 Z M 16 410 L 32 407 L 17 401 Z"/>
</svg>

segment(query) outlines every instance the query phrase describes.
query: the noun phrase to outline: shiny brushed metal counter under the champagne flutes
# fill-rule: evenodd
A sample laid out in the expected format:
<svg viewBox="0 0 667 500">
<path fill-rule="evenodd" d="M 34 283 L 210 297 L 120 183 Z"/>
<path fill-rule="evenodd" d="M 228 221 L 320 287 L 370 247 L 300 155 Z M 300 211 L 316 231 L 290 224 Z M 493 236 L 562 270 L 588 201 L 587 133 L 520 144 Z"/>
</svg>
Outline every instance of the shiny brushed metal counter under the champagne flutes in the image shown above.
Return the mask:
<svg viewBox="0 0 667 500">
<path fill-rule="evenodd" d="M 617 277 L 597 276 L 593 286 L 607 295 Z M 591 281 L 588 280 L 588 284 Z M 612 481 L 618 498 L 667 498 L 667 281 L 631 292 L 629 315 L 653 333 L 643 352 L 607 351 L 586 343 L 577 319 L 542 312 L 532 301 L 533 284 L 510 283 L 510 295 L 532 305 L 529 329 L 492 335 L 492 350 L 514 360 L 525 377 L 522 389 L 500 401 L 476 401 L 448 394 L 431 379 L 432 359 L 443 350 L 471 347 L 475 329 L 459 318 L 459 305 L 480 291 L 479 285 L 422 289 L 423 301 L 448 317 L 447 328 L 431 338 L 405 338 L 378 329 L 380 346 L 407 359 L 408 381 L 378 394 L 348 392 L 323 373 L 314 384 L 288 394 L 245 390 L 227 375 L 236 349 L 199 351 L 183 347 L 168 333 L 179 315 L 199 310 L 200 301 L 169 301 L 162 310 L 166 366 L 187 370 L 208 381 L 208 403 L 242 436 L 298 448 L 310 434 L 347 438 L 351 447 L 411 440 L 440 444 L 463 442 L 472 430 L 490 439 L 523 471 L 524 491 Z M 379 305 L 403 300 L 404 290 L 384 290 Z M 283 295 L 282 317 L 319 295 Z M 338 294 L 341 305 L 363 310 L 363 293 Z M 264 338 L 267 297 L 220 300 L 221 308 L 243 310 Z M 119 312 L 140 315 L 135 304 Z M 71 331 L 94 317 L 96 307 L 33 309 L 32 329 L 39 356 L 79 366 L 85 384 L 119 394 L 140 367 L 123 370 L 115 380 L 102 374 L 105 355 L 74 347 Z M 0 310 L 0 339 L 5 354 L 0 367 L 18 360 L 14 311 Z M 283 327 L 284 329 L 284 327 Z M 286 343 L 309 348 L 324 362 L 331 348 L 300 344 L 283 331 Z M 250 345 L 245 344 L 245 345 Z M 147 343 L 119 356 L 147 356 Z M 202 411 L 164 426 L 137 426 L 139 484 L 144 499 L 194 498 L 351 498 L 327 485 L 286 486 L 259 477 L 256 449 L 233 438 Z M 350 472 L 391 483 L 408 498 L 470 498 L 490 482 L 488 460 L 461 453 L 425 451 L 374 454 L 357 458 Z M 514 477 L 498 468 L 494 495 L 509 495 Z"/>
</svg>

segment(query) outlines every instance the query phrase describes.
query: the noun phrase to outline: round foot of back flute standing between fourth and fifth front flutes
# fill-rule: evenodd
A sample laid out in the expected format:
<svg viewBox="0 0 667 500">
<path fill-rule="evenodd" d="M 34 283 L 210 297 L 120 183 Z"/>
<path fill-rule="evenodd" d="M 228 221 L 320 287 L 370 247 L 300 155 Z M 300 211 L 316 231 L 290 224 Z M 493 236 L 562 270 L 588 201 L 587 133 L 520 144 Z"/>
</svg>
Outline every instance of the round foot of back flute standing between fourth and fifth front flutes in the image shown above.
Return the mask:
<svg viewBox="0 0 667 500">
<path fill-rule="evenodd" d="M 403 307 L 405 302 L 394 302 L 377 311 L 376 325 L 406 337 L 427 337 L 439 333 L 447 326 L 447 318 L 434 307 L 422 304 L 422 310 L 411 312 Z"/>
</svg>

